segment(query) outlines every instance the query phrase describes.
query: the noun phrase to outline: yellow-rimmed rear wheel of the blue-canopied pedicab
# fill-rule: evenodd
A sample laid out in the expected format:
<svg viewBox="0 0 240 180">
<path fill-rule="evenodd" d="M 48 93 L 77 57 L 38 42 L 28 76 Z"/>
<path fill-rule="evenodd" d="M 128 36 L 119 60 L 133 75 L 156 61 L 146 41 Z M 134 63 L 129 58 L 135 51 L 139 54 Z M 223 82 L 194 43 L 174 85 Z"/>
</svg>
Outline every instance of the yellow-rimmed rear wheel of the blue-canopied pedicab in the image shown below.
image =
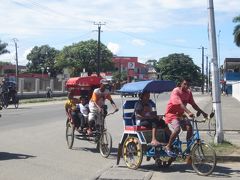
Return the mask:
<svg viewBox="0 0 240 180">
<path fill-rule="evenodd" d="M 143 159 L 142 145 L 137 137 L 128 137 L 123 143 L 123 159 L 130 169 L 137 169 Z"/>
</svg>

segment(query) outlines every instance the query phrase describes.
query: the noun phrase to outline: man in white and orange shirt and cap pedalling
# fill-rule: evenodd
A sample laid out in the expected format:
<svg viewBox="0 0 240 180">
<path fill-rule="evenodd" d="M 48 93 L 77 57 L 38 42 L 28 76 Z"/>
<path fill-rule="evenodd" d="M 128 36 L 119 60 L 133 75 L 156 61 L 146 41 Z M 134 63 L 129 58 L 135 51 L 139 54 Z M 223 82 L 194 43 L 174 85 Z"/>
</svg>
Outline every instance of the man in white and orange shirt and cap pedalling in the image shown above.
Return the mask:
<svg viewBox="0 0 240 180">
<path fill-rule="evenodd" d="M 101 79 L 100 81 L 100 87 L 94 89 L 92 97 L 89 101 L 89 129 L 88 133 L 91 134 L 92 128 L 94 128 L 95 125 L 102 125 L 103 122 L 102 118 L 100 117 L 101 112 L 104 111 L 103 106 L 105 105 L 105 100 L 108 99 L 113 106 L 113 108 L 117 111 L 118 108 L 114 101 L 112 100 L 111 94 L 109 90 L 107 89 L 108 81 L 106 79 Z M 104 113 L 104 112 L 103 112 Z"/>
</svg>

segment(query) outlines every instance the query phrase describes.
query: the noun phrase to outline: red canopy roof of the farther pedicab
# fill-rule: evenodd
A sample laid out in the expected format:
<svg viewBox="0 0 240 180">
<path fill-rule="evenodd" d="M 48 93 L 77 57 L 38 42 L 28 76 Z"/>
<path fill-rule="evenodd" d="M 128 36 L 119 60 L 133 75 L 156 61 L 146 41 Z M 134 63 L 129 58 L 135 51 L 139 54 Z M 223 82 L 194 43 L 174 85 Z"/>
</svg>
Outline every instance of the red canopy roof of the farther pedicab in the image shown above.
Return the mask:
<svg viewBox="0 0 240 180">
<path fill-rule="evenodd" d="M 96 76 L 73 77 L 66 82 L 66 88 L 99 86 L 101 79 L 101 77 Z"/>
</svg>

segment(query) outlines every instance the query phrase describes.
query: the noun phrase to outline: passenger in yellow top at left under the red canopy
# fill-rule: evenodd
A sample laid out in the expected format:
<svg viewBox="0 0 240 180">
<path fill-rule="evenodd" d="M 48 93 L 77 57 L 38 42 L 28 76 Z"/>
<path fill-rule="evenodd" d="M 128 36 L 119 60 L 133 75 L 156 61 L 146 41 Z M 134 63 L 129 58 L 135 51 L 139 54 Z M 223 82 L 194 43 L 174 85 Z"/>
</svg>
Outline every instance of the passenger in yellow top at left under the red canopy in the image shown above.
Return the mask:
<svg viewBox="0 0 240 180">
<path fill-rule="evenodd" d="M 67 102 L 65 103 L 65 111 L 70 119 L 74 122 L 76 128 L 80 127 L 81 119 L 78 116 L 79 110 L 77 109 L 78 99 L 74 98 L 73 93 L 69 92 Z"/>
</svg>

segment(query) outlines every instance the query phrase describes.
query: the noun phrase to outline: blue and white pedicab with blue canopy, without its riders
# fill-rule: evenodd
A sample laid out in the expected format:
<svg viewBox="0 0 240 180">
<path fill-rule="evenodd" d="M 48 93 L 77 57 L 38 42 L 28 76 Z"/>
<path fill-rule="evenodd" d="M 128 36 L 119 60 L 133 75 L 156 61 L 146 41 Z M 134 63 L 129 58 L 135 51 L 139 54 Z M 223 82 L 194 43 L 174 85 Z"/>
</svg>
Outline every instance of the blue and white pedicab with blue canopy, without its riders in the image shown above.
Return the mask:
<svg viewBox="0 0 240 180">
<path fill-rule="evenodd" d="M 171 91 L 175 87 L 172 81 L 140 81 L 125 84 L 120 90 L 120 93 L 163 93 Z M 146 160 L 151 158 L 155 160 L 158 167 L 169 167 L 173 161 L 181 158 L 191 159 L 193 169 L 199 175 L 209 175 L 213 172 L 216 166 L 216 153 L 214 149 L 200 138 L 198 131 L 198 123 L 206 122 L 207 119 L 197 120 L 191 119 L 194 129 L 194 135 L 191 142 L 183 142 L 179 136 L 172 144 L 172 150 L 176 157 L 170 157 L 165 152 L 165 145 L 168 142 L 165 132 L 158 130 L 157 139 L 161 142 L 157 146 L 153 146 L 151 142 L 151 129 L 136 124 L 134 116 L 134 105 L 138 100 L 126 100 L 123 103 L 123 122 L 124 131 L 118 145 L 117 165 L 120 159 L 123 158 L 126 166 L 130 169 L 137 169 L 141 166 L 143 156 Z M 156 108 L 156 103 L 150 100 L 153 107 Z M 212 118 L 213 115 L 210 116 Z M 183 146 L 186 149 L 183 150 Z M 190 154 L 189 154 L 190 153 Z"/>
</svg>

